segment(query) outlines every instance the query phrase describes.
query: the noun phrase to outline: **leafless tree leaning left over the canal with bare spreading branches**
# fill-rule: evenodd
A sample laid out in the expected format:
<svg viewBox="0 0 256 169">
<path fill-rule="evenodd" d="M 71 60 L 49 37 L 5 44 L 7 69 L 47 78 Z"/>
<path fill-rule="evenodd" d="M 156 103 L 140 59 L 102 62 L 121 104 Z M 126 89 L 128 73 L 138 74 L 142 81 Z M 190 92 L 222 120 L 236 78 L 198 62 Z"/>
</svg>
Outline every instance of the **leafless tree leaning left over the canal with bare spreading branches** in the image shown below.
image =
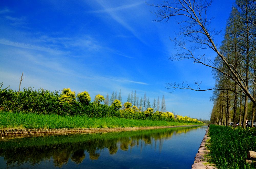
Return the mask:
<svg viewBox="0 0 256 169">
<path fill-rule="evenodd" d="M 249 0 L 246 0 L 244 9 L 249 9 L 250 4 Z M 148 4 L 157 8 L 157 10 L 152 11 L 156 15 L 157 22 L 169 22 L 172 17 L 179 17 L 178 24 L 181 24 L 180 32 L 177 33 L 177 36 L 170 38 L 170 40 L 177 47 L 177 53 L 173 54 L 169 59 L 172 61 L 179 61 L 184 59 L 191 59 L 193 63 L 200 63 L 202 65 L 216 69 L 226 77 L 229 77 L 234 83 L 238 85 L 237 92 L 243 92 L 247 98 L 249 98 L 254 105 L 256 105 L 256 99 L 250 93 L 248 89 L 249 81 L 249 48 L 248 41 L 246 46 L 246 67 L 245 73 L 246 78 L 241 74 L 236 65 L 232 63 L 228 56 L 224 55 L 220 49 L 214 43 L 214 36 L 218 35 L 220 32 L 215 31 L 210 26 L 210 21 L 213 18 L 207 18 L 207 9 L 211 5 L 211 1 L 207 0 L 174 0 L 174 1 L 164 1 L 162 4 Z M 246 16 L 248 17 L 248 16 Z M 248 19 L 248 18 L 247 18 Z M 246 36 L 248 37 L 249 28 L 247 27 Z M 248 40 L 248 38 L 247 38 Z M 228 72 L 223 71 L 214 65 L 214 62 L 207 57 L 205 54 L 199 54 L 201 50 L 212 49 L 216 52 L 217 57 L 219 57 L 222 62 L 225 64 Z M 205 91 L 205 90 L 231 90 L 236 91 L 235 89 L 201 89 L 200 82 L 195 81 L 194 83 L 196 88 L 191 87 L 187 82 L 183 83 L 167 83 L 166 87 L 168 89 L 191 89 L 196 91 Z M 247 100 L 245 100 L 247 102 Z M 247 111 L 244 111 L 247 112 Z M 246 114 L 244 114 L 246 118 Z M 243 119 L 243 126 L 245 126 L 245 121 Z"/>
</svg>

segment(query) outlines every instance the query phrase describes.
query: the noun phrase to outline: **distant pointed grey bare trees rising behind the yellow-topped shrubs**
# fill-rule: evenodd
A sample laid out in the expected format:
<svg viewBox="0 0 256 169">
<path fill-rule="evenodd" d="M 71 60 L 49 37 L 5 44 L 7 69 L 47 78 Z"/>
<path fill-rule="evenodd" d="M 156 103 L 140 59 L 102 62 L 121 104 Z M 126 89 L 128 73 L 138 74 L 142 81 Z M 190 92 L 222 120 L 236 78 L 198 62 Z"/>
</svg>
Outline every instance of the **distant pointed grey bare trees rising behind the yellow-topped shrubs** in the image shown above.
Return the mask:
<svg viewBox="0 0 256 169">
<path fill-rule="evenodd" d="M 122 96 L 121 96 L 121 89 L 119 90 L 119 94 L 117 94 L 117 91 L 115 91 L 115 92 L 113 91 L 110 99 L 109 99 L 109 94 L 107 93 L 105 100 L 104 100 L 104 104 L 110 106 L 115 99 L 118 99 L 121 102 L 121 104 L 123 104 Z M 130 93 L 128 94 L 126 102 L 130 102 L 132 104 L 132 106 L 134 105 L 134 106 L 140 108 L 140 110 L 142 110 L 142 111 L 145 111 L 147 108 L 151 108 L 151 107 L 153 108 L 154 112 L 155 111 L 162 111 L 162 112 L 166 111 L 164 95 L 162 97 L 161 102 L 160 102 L 159 96 L 158 96 L 157 101 L 156 101 L 156 98 L 154 98 L 153 104 L 151 105 L 149 98 L 146 96 L 146 92 L 144 93 L 144 97 L 143 98 L 141 97 L 139 100 L 139 96 L 137 96 L 136 90 L 135 90 L 134 93 L 132 91 L 131 94 Z"/>
</svg>

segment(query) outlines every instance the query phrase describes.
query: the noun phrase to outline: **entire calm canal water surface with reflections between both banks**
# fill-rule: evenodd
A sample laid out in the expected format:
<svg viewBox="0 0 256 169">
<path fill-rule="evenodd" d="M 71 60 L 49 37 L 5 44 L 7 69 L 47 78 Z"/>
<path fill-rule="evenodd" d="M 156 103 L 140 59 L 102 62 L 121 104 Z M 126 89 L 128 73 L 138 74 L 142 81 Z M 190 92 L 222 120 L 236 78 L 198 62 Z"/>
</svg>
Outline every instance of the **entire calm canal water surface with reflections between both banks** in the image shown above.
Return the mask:
<svg viewBox="0 0 256 169">
<path fill-rule="evenodd" d="M 4 139 L 0 168 L 191 168 L 206 127 Z"/>
</svg>

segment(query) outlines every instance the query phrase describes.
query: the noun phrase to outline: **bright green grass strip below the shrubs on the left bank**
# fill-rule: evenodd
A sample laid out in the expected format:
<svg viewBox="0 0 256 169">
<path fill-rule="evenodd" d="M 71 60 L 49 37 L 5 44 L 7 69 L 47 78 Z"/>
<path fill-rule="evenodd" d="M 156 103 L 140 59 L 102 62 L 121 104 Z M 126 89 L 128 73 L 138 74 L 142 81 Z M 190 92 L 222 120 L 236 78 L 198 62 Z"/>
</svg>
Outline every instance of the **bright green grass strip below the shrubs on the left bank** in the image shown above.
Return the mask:
<svg viewBox="0 0 256 169">
<path fill-rule="evenodd" d="M 118 127 L 146 127 L 146 126 L 176 126 L 193 125 L 195 123 L 178 123 L 153 120 L 135 120 L 123 118 L 89 118 L 86 116 L 59 116 L 11 113 L 0 111 L 0 129 L 61 129 L 61 128 L 118 128 Z"/>
</svg>

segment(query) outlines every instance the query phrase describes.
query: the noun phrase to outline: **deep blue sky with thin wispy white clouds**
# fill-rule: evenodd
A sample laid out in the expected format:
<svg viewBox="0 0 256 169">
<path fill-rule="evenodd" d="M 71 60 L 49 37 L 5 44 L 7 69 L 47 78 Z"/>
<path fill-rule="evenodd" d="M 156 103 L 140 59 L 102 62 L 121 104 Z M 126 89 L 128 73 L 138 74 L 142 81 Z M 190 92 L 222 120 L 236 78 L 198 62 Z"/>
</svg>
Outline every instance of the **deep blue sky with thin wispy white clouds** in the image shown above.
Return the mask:
<svg viewBox="0 0 256 169">
<path fill-rule="evenodd" d="M 147 3 L 159 3 L 154 0 Z M 215 0 L 208 10 L 220 44 L 234 0 Z M 145 1 L 12 1 L 0 2 L 0 82 L 18 90 L 70 88 L 110 96 L 121 89 L 123 102 L 136 90 L 150 103 L 165 96 L 167 111 L 209 119 L 212 91 L 166 89 L 166 83 L 202 81 L 215 84 L 211 69 L 193 62 L 168 60 L 176 53 L 169 37 L 179 30 L 173 18 L 154 22 Z M 208 57 L 216 54 L 200 51 Z"/>
</svg>

